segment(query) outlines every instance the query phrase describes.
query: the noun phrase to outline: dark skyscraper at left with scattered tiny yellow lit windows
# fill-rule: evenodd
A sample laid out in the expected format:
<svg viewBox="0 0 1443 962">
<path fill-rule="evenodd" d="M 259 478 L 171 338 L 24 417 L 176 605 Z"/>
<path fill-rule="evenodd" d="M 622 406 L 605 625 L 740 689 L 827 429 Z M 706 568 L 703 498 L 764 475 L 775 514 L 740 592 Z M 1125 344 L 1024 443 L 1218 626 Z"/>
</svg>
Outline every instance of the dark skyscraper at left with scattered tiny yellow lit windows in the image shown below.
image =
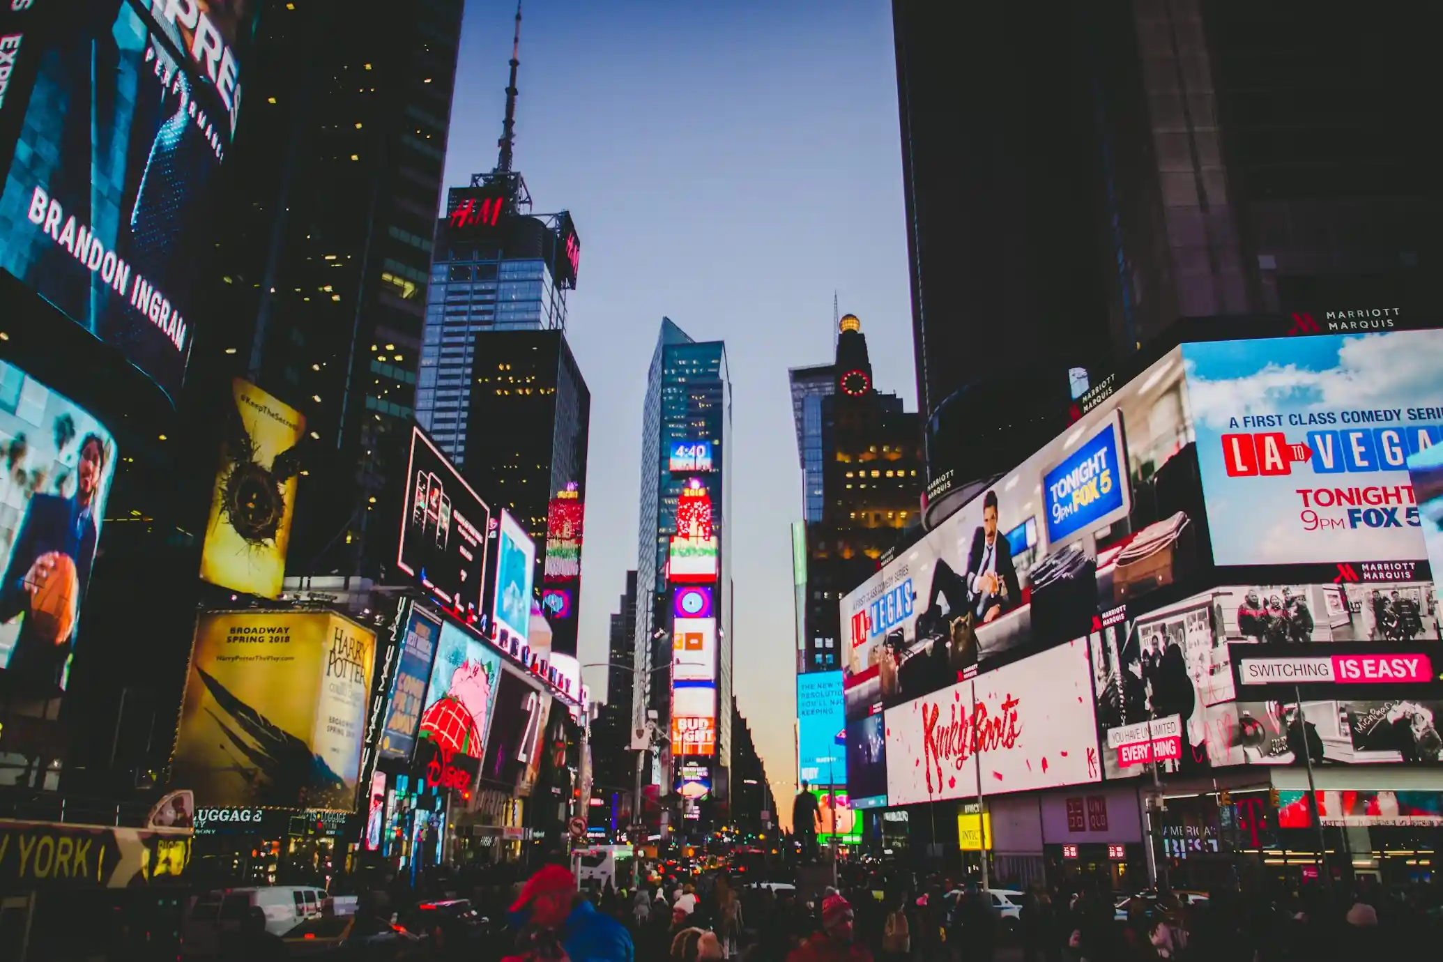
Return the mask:
<svg viewBox="0 0 1443 962">
<path fill-rule="evenodd" d="M 235 375 L 304 414 L 296 574 L 378 577 L 395 550 L 378 513 L 405 470 L 462 6 L 260 17 L 188 410 L 214 443 Z"/>
</svg>

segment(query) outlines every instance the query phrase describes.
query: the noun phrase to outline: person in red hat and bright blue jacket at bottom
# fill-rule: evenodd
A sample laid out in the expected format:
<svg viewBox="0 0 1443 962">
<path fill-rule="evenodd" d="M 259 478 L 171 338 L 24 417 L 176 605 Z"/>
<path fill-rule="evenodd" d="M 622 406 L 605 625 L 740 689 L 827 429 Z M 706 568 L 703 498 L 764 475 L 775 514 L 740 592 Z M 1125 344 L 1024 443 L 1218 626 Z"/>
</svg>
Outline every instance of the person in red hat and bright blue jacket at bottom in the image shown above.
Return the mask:
<svg viewBox="0 0 1443 962">
<path fill-rule="evenodd" d="M 635 962 L 631 933 L 576 891 L 576 877 L 560 865 L 531 875 L 511 906 L 521 932 L 521 955 L 511 961 Z"/>
</svg>

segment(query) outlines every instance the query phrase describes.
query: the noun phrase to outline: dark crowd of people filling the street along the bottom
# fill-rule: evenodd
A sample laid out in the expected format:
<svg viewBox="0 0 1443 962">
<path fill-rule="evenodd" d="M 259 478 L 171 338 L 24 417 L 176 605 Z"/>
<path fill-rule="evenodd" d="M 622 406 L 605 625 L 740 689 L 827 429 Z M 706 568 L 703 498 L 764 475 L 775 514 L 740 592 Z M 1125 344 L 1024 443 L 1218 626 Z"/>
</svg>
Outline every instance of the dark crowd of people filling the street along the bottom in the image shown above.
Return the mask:
<svg viewBox="0 0 1443 962">
<path fill-rule="evenodd" d="M 560 890 L 567 873 L 553 874 Z M 812 894 L 789 884 L 740 886 L 726 873 L 651 875 L 632 891 L 570 896 L 567 904 L 576 907 L 567 919 L 580 912 L 589 926 L 603 919 L 613 926 L 603 940 L 609 953 L 577 956 L 561 937 L 567 955 L 547 955 L 522 935 L 528 948 L 512 962 L 994 962 L 1004 949 L 1026 962 L 1316 962 L 1433 958 L 1443 936 L 1443 887 L 1436 884 L 1361 880 L 1329 891 L 1313 881 L 1245 894 L 1218 888 L 1193 900 L 1165 890 L 1121 907 L 1105 884 L 1068 891 L 1035 884 L 1026 887 L 1020 914 L 1004 920 L 975 883 L 957 887 L 941 875 L 860 867 L 844 870 L 838 883 Z M 561 917 L 560 910 L 550 916 Z"/>
</svg>

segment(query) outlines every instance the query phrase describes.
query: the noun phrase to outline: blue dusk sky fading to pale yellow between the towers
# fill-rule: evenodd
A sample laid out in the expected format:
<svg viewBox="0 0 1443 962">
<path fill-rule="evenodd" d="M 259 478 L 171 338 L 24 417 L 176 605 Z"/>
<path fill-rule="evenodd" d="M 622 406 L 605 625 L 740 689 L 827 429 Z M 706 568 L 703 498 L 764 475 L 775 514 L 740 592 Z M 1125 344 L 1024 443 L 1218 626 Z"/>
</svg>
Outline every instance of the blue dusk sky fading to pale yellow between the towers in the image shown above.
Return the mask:
<svg viewBox="0 0 1443 962">
<path fill-rule="evenodd" d="M 491 170 L 515 7 L 469 0 L 446 185 Z M 662 316 L 726 340 L 734 688 L 773 790 L 795 792 L 786 369 L 831 359 L 833 291 L 876 384 L 915 408 L 887 0 L 527 0 L 515 167 L 582 238 L 567 339 L 592 391 L 582 661 L 606 659 L 636 567 L 642 397 Z M 605 669 L 589 669 L 593 691 Z M 789 806 L 778 806 L 789 815 Z"/>
</svg>

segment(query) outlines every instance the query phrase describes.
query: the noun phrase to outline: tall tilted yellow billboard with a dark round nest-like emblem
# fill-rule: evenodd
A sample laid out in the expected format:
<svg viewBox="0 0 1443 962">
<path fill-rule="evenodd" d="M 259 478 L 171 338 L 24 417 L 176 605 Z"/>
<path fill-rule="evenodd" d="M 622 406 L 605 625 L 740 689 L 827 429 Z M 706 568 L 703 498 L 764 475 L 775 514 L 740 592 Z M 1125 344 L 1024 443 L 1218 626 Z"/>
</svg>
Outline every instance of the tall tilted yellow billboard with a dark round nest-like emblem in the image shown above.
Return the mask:
<svg viewBox="0 0 1443 962">
<path fill-rule="evenodd" d="M 221 467 L 201 551 L 201 578 L 232 591 L 280 596 L 296 509 L 306 417 L 250 381 L 231 382 Z"/>
</svg>

